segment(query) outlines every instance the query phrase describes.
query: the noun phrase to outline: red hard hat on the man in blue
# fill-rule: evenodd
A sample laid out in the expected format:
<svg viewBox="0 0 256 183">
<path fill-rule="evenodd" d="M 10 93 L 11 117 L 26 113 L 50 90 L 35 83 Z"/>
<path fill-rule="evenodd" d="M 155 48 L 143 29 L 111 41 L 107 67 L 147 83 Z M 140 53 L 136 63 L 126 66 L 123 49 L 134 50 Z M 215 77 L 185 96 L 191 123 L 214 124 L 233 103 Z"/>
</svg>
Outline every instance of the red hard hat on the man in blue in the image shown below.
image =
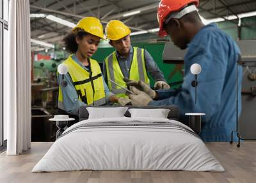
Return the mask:
<svg viewBox="0 0 256 183">
<path fill-rule="evenodd" d="M 177 12 L 184 8 L 188 4 L 195 3 L 199 6 L 199 0 L 161 0 L 157 10 L 157 20 L 159 23 L 158 35 L 163 37 L 166 36 L 166 31 L 163 30 L 163 22 L 166 16 L 172 12 Z"/>
</svg>

